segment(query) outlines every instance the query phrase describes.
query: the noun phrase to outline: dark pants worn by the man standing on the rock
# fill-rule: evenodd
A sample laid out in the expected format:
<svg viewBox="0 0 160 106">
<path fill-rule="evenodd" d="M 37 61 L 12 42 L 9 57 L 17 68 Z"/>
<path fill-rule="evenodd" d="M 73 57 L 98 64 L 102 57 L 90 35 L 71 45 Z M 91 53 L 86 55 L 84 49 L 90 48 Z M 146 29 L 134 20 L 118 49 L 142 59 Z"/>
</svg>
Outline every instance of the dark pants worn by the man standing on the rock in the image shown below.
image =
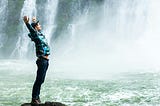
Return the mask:
<svg viewBox="0 0 160 106">
<path fill-rule="evenodd" d="M 45 80 L 46 72 L 49 65 L 48 61 L 49 60 L 44 58 L 37 59 L 36 61 L 38 69 L 37 69 L 36 80 L 34 82 L 33 89 L 32 89 L 32 98 L 34 99 L 39 99 L 41 85 Z"/>
</svg>

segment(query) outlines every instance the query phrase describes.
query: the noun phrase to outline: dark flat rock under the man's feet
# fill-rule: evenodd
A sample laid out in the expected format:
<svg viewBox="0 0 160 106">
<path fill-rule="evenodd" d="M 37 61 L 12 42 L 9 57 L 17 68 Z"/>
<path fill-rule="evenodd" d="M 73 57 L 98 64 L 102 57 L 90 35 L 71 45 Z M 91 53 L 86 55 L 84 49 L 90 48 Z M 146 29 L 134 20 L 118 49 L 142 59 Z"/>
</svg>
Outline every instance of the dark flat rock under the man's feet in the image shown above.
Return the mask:
<svg viewBox="0 0 160 106">
<path fill-rule="evenodd" d="M 66 105 L 60 102 L 45 102 L 41 104 L 24 103 L 21 106 L 66 106 Z"/>
</svg>

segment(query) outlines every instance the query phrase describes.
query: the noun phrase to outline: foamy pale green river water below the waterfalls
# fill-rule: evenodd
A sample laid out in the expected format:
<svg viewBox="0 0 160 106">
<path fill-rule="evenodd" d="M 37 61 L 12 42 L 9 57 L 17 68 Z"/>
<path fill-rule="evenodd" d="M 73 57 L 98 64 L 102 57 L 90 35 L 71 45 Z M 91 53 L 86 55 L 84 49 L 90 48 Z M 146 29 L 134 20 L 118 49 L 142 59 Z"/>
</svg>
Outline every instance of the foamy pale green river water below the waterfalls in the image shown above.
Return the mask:
<svg viewBox="0 0 160 106">
<path fill-rule="evenodd" d="M 35 75 L 12 72 L 1 69 L 1 106 L 17 106 L 31 99 Z M 69 106 L 158 106 L 159 77 L 158 73 L 126 73 L 107 80 L 72 80 L 47 74 L 41 99 L 42 102 L 59 101 Z"/>
</svg>

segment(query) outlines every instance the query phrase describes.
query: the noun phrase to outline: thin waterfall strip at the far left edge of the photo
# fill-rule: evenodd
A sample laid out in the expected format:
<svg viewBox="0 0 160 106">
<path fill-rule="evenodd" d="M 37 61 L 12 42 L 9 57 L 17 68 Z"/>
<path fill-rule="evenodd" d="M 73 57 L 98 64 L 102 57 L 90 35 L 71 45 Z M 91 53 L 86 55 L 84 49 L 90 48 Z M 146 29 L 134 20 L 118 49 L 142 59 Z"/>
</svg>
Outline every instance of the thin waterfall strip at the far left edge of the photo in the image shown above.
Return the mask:
<svg viewBox="0 0 160 106">
<path fill-rule="evenodd" d="M 3 44 L 6 42 L 7 39 L 5 36 L 7 6 L 8 0 L 0 1 L 0 48 L 4 46 Z"/>
</svg>

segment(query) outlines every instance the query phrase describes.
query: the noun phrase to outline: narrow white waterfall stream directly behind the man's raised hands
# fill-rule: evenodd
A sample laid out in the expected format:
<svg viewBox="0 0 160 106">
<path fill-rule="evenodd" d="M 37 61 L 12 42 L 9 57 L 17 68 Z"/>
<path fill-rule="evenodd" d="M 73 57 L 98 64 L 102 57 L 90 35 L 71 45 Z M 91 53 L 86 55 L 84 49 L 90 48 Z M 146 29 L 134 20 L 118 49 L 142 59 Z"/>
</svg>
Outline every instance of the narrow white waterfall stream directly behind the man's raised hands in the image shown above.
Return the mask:
<svg viewBox="0 0 160 106">
<path fill-rule="evenodd" d="M 11 57 L 18 54 L 19 58 L 24 58 L 26 57 L 28 50 L 31 48 L 29 46 L 30 39 L 28 38 L 28 29 L 26 28 L 26 25 L 23 22 L 23 16 L 25 15 L 30 18 L 30 21 L 32 20 L 32 16 L 36 16 L 36 0 L 24 1 L 20 15 L 20 22 L 22 25 L 22 29 L 19 32 L 19 38 L 16 47 L 11 54 Z"/>
</svg>

